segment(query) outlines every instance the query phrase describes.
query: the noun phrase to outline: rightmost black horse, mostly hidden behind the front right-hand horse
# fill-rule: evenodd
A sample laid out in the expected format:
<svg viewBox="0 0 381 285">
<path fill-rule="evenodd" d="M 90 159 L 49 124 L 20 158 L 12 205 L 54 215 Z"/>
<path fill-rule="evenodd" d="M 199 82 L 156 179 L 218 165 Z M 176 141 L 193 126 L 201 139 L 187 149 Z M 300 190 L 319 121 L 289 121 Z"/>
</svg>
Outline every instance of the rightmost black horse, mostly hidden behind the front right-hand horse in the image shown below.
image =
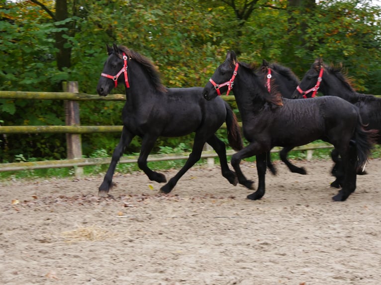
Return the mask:
<svg viewBox="0 0 381 285">
<path fill-rule="evenodd" d="M 343 67 L 327 66 L 322 59 L 316 59 L 311 65 L 297 86 L 293 96 L 297 98 L 315 97 L 318 91 L 321 91 L 326 96 L 337 96 L 354 104 L 359 108 L 360 116 L 366 129 L 381 131 L 381 98 L 373 95 L 360 94 L 356 92 L 349 80 L 343 74 Z M 377 136 L 378 144 L 381 144 L 381 136 Z M 332 158 L 336 162 L 334 171 L 340 171 L 340 159 L 338 153 L 333 152 Z M 365 174 L 364 169 L 359 169 L 357 174 Z M 337 176 L 337 174 L 336 174 Z M 338 188 L 340 183 L 337 181 L 331 184 Z"/>
</svg>

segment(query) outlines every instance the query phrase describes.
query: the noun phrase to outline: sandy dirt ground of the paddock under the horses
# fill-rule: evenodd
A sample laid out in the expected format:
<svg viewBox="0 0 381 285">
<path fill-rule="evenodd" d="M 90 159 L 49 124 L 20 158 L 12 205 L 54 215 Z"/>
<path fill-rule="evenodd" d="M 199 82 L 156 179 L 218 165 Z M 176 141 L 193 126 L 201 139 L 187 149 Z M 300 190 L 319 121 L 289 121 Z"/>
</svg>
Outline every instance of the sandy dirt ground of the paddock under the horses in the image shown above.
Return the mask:
<svg viewBox="0 0 381 285">
<path fill-rule="evenodd" d="M 0 284 L 379 285 L 381 160 L 346 202 L 330 161 L 277 162 L 260 201 L 219 166 L 194 167 L 170 195 L 142 172 L 0 182 Z M 245 162 L 254 179 L 254 163 Z M 176 170 L 163 172 L 167 179 Z"/>
</svg>

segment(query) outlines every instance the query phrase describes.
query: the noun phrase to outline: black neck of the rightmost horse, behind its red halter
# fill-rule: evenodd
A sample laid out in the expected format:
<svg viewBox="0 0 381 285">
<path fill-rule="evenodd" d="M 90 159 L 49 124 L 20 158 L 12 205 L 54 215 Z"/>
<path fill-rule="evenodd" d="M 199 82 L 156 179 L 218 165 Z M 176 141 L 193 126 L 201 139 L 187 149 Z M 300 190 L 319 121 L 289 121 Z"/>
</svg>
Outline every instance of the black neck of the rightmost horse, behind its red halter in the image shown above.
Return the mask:
<svg viewBox="0 0 381 285">
<path fill-rule="evenodd" d="M 352 102 L 357 100 L 357 93 L 337 78 L 335 74 L 323 74 L 320 91 L 326 96 L 341 97 L 346 101 Z"/>
</svg>

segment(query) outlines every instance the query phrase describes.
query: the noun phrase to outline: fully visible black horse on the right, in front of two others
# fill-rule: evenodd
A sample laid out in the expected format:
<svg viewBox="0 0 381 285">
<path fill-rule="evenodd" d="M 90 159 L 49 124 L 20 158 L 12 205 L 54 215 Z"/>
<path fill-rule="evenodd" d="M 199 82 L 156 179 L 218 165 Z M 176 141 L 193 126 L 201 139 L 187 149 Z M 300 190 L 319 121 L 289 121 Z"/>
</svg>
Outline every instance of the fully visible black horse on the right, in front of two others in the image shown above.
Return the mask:
<svg viewBox="0 0 381 285">
<path fill-rule="evenodd" d="M 254 72 L 251 65 L 237 62 L 234 52 L 228 52 L 226 60 L 217 68 L 206 83 L 203 95 L 211 100 L 221 91 L 232 89 L 242 116 L 243 134 L 249 145 L 233 154 L 231 164 L 238 182 L 254 189 L 253 181 L 246 179 L 240 169 L 240 161 L 253 155 L 257 157 L 258 189 L 247 198 L 257 200 L 265 194 L 266 152 L 274 146 L 294 147 L 323 140 L 338 150 L 345 175 L 343 188 L 333 197 L 345 201 L 356 189 L 356 169 L 364 165 L 370 154 L 372 135 L 365 131 L 358 109 L 344 99 L 327 96 L 315 99 L 282 99 L 276 90 L 268 89 Z M 228 82 L 228 87 L 223 82 Z"/>
</svg>

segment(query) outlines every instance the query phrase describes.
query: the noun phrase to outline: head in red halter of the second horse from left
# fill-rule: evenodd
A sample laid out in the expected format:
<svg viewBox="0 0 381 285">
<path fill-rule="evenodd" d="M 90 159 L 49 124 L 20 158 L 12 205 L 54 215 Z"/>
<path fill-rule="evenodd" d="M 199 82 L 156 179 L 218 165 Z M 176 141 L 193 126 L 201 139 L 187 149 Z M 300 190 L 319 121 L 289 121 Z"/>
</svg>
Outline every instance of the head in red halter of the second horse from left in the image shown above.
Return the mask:
<svg viewBox="0 0 381 285">
<path fill-rule="evenodd" d="M 202 91 L 204 98 L 206 100 L 211 100 L 225 91 L 227 91 L 226 95 L 228 95 L 230 90 L 233 88 L 237 70 L 238 61 L 235 52 L 229 51 L 226 54 L 225 61 L 216 69 L 216 71 L 214 71 L 214 74 L 209 79 L 209 82 L 206 83 L 204 90 Z"/>
</svg>

